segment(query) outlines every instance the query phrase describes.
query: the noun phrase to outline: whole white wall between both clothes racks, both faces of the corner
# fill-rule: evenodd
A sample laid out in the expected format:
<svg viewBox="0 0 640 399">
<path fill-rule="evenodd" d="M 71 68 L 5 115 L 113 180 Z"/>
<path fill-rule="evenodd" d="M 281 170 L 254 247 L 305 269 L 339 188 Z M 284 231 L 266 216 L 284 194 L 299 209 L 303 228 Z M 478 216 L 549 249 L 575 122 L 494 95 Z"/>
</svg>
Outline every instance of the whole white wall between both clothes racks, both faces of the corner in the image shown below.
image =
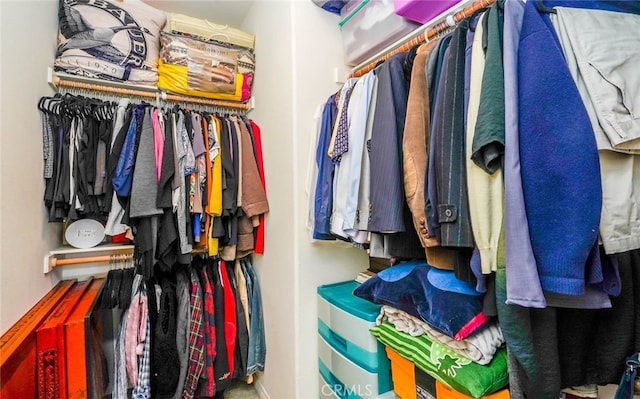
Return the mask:
<svg viewBox="0 0 640 399">
<path fill-rule="evenodd" d="M 257 258 L 267 332 L 259 385 L 273 399 L 317 398 L 316 288 L 353 279 L 363 251 L 311 243 L 305 229 L 309 145 L 315 109 L 340 85 L 339 17 L 311 1 L 257 1 L 243 28 L 256 33 L 256 109 L 263 131 L 267 194 L 264 257 Z"/>
</svg>

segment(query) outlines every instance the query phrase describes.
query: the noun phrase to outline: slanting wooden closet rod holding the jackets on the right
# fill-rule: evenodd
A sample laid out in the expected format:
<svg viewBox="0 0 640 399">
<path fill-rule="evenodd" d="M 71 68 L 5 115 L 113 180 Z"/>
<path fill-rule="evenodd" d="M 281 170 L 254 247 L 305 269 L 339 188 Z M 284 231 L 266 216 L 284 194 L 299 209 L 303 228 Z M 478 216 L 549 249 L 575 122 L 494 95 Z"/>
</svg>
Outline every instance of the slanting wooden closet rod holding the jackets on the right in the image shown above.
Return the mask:
<svg viewBox="0 0 640 399">
<path fill-rule="evenodd" d="M 473 15 L 474 12 L 481 10 L 483 8 L 489 7 L 491 4 L 495 3 L 495 1 L 496 0 L 478 0 L 475 3 L 471 4 L 470 6 L 467 6 L 462 10 L 458 11 L 457 13 L 447 16 L 444 20 L 438 22 L 437 24 L 429 28 L 429 30 L 427 30 L 425 33 L 421 33 L 418 36 L 414 37 L 413 39 L 401 44 L 399 47 L 396 47 L 393 50 L 390 50 L 388 53 L 377 57 L 375 60 L 371 61 L 367 65 L 352 72 L 349 75 L 349 77 L 358 78 L 364 75 L 365 73 L 373 70 L 376 67 L 376 65 L 378 65 L 380 62 L 386 61 L 396 54 L 409 51 L 413 46 L 427 42 L 428 40 L 434 38 L 438 34 L 445 32 L 448 29 L 451 29 L 452 26 L 455 26 L 455 24 L 462 21 L 464 18 Z M 450 21 L 451 18 L 453 19 L 453 24 Z"/>
</svg>

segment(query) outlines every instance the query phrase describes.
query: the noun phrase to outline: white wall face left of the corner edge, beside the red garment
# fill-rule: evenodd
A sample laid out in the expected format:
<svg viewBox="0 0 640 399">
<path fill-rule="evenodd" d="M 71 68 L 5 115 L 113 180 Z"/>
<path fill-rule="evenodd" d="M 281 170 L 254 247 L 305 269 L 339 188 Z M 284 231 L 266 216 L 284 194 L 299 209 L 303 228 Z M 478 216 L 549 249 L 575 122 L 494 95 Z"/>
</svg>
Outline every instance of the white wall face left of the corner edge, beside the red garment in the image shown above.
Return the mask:
<svg viewBox="0 0 640 399">
<path fill-rule="evenodd" d="M 256 109 L 261 128 L 269 213 L 265 254 L 257 256 L 267 344 L 266 371 L 259 382 L 273 399 L 294 398 L 295 218 L 291 3 L 259 1 L 243 28 L 256 34 Z"/>
</svg>

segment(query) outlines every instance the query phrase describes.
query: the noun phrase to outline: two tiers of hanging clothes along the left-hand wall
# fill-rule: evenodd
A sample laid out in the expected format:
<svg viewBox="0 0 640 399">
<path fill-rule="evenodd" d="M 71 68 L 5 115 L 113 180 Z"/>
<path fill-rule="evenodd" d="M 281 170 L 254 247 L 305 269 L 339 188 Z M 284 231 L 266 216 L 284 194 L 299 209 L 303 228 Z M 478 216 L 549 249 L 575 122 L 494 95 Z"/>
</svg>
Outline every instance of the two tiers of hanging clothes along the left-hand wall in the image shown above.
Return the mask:
<svg viewBox="0 0 640 399">
<path fill-rule="evenodd" d="M 38 109 L 49 220 L 94 218 L 134 244 L 135 267 L 109 271 L 99 298 L 122 310 L 114 397 L 214 397 L 251 381 L 264 322 L 241 258 L 264 252 L 260 127 L 129 99 L 56 95 Z"/>
</svg>

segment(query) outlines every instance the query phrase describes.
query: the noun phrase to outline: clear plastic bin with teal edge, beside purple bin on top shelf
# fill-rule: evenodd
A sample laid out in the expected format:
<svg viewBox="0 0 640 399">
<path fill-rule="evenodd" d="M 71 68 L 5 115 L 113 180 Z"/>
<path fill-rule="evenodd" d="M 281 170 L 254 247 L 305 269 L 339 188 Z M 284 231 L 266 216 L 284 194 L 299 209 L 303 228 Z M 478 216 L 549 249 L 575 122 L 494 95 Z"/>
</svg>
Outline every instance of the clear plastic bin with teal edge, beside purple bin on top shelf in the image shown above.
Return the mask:
<svg viewBox="0 0 640 399">
<path fill-rule="evenodd" d="M 395 13 L 393 0 L 358 0 L 340 13 L 345 63 L 356 65 L 412 32 L 420 24 Z"/>
</svg>

